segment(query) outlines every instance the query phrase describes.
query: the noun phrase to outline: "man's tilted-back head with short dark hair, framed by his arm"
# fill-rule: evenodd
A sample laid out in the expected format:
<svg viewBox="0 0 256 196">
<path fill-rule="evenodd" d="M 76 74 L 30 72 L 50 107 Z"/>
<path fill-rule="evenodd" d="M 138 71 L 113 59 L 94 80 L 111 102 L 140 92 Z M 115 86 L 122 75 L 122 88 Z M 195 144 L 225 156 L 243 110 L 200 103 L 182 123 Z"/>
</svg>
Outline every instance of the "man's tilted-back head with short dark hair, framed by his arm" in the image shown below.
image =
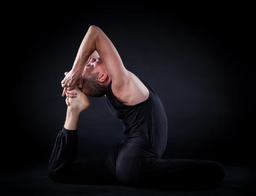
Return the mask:
<svg viewBox="0 0 256 196">
<path fill-rule="evenodd" d="M 109 78 L 105 64 L 101 58 L 91 58 L 90 62 L 84 67 L 82 74 L 84 80 L 82 92 L 90 97 L 102 97 L 109 91 Z"/>
</svg>

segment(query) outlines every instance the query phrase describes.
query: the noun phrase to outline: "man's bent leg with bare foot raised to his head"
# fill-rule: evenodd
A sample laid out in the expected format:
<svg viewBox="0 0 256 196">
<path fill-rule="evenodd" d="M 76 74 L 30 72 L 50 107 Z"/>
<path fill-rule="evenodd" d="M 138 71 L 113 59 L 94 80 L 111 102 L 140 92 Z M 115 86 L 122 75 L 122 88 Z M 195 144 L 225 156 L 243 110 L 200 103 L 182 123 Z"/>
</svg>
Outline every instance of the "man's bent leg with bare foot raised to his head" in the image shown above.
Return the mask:
<svg viewBox="0 0 256 196">
<path fill-rule="evenodd" d="M 68 93 L 67 91 L 66 93 Z M 73 98 L 72 93 L 76 93 Z M 79 89 L 67 94 L 67 115 L 63 129 L 58 133 L 49 160 L 49 178 L 55 182 L 88 184 L 105 183 L 115 180 L 105 159 L 74 163 L 78 148 L 78 121 L 90 101 Z"/>
</svg>

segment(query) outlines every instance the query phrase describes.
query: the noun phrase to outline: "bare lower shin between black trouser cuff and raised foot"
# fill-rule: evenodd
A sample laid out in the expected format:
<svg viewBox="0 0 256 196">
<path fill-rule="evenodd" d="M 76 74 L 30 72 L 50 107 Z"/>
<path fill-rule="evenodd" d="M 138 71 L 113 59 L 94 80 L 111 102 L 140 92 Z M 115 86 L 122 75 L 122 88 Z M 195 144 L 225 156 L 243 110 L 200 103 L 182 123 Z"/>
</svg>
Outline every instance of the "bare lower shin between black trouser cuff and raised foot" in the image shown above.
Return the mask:
<svg viewBox="0 0 256 196">
<path fill-rule="evenodd" d="M 67 130 L 77 130 L 80 113 L 78 110 L 73 110 L 68 106 L 64 128 Z"/>
</svg>

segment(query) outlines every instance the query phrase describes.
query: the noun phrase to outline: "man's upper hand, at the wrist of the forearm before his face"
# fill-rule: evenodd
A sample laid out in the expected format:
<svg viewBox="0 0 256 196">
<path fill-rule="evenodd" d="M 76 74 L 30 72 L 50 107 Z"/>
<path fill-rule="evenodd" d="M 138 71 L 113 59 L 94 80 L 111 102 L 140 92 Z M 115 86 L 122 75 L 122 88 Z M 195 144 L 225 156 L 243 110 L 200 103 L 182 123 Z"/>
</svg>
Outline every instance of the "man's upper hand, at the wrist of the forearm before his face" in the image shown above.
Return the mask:
<svg viewBox="0 0 256 196">
<path fill-rule="evenodd" d="M 82 72 L 82 69 L 78 69 L 76 71 L 71 69 L 70 72 L 65 72 L 65 78 L 61 81 L 61 86 L 64 88 L 62 97 L 64 97 L 67 90 L 72 90 L 76 86 L 79 88 L 83 86 Z"/>
</svg>

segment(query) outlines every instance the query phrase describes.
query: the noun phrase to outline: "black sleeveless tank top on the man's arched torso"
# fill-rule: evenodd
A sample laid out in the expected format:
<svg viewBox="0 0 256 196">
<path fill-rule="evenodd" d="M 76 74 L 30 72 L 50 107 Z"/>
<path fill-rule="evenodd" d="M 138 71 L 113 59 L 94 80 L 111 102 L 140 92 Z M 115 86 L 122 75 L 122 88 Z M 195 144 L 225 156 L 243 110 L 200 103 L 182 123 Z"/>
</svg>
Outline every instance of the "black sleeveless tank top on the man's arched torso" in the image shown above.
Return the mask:
<svg viewBox="0 0 256 196">
<path fill-rule="evenodd" d="M 140 81 L 148 88 L 149 96 L 133 106 L 117 100 L 111 89 L 111 81 L 110 91 L 106 94 L 108 110 L 123 123 L 125 142 L 153 148 L 161 157 L 167 140 L 166 113 L 157 93 L 145 81 Z"/>
</svg>

